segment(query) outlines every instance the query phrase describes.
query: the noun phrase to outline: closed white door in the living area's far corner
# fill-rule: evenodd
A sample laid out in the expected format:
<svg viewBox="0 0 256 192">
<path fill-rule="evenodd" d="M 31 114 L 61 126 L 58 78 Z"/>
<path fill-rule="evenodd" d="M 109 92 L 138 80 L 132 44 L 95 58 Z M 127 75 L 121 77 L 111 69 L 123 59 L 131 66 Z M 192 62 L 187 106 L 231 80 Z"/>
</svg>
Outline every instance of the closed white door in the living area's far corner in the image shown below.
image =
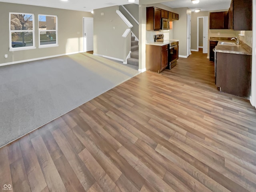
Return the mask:
<svg viewBox="0 0 256 192">
<path fill-rule="evenodd" d="M 84 17 L 84 52 L 93 51 L 93 18 Z"/>
</svg>

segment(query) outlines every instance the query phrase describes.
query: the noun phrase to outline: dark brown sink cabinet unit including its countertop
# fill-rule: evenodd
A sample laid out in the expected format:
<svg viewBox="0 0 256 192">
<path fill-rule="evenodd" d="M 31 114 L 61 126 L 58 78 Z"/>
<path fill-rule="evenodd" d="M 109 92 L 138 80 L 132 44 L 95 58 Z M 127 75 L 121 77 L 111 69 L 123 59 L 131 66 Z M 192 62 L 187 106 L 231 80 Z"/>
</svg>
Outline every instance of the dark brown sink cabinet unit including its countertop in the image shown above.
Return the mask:
<svg viewBox="0 0 256 192">
<path fill-rule="evenodd" d="M 224 44 L 223 44 L 224 42 Z M 248 98 L 251 84 L 252 50 L 241 44 L 225 44 L 234 40 L 220 40 L 216 52 L 216 86 L 220 91 Z"/>
</svg>

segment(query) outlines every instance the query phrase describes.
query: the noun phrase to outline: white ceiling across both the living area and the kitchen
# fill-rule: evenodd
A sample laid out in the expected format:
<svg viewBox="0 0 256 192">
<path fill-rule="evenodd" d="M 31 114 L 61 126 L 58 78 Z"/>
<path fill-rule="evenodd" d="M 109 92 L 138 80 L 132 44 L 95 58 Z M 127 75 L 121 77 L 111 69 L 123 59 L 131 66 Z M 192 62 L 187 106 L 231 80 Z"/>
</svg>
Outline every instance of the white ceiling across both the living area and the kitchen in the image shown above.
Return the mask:
<svg viewBox="0 0 256 192">
<path fill-rule="evenodd" d="M 128 0 L 0 0 L 0 2 L 53 7 L 87 12 L 98 8 L 129 4 Z M 231 0 L 200 0 L 198 4 L 192 4 L 191 0 L 172 0 L 169 2 L 164 2 L 162 4 L 171 8 L 188 7 L 192 11 L 194 11 L 195 9 L 201 9 L 201 11 L 208 11 L 228 9 L 230 6 L 230 2 Z M 135 0 L 134 3 L 139 4 L 139 0 Z"/>
</svg>

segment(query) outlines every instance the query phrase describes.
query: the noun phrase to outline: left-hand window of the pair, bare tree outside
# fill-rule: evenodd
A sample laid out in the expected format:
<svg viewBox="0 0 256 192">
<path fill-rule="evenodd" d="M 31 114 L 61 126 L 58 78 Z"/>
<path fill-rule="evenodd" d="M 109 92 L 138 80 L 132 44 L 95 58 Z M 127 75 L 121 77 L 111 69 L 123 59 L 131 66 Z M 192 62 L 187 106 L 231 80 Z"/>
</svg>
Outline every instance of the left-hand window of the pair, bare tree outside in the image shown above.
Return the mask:
<svg viewBox="0 0 256 192">
<path fill-rule="evenodd" d="M 32 49 L 34 46 L 34 14 L 10 13 L 10 50 Z"/>
</svg>

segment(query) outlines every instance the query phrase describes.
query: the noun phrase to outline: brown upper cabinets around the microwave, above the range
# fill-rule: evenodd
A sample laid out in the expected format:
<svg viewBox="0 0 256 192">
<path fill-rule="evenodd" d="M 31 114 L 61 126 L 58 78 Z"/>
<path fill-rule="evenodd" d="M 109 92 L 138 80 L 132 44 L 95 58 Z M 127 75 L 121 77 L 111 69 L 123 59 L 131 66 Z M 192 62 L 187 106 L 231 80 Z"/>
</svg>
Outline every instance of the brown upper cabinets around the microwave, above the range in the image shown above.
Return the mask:
<svg viewBox="0 0 256 192">
<path fill-rule="evenodd" d="M 172 20 L 179 19 L 179 14 L 156 7 L 147 7 L 146 30 L 161 30 L 162 18 L 169 19 L 172 22 Z M 172 23 L 170 23 L 170 29 L 172 29 Z"/>
</svg>

